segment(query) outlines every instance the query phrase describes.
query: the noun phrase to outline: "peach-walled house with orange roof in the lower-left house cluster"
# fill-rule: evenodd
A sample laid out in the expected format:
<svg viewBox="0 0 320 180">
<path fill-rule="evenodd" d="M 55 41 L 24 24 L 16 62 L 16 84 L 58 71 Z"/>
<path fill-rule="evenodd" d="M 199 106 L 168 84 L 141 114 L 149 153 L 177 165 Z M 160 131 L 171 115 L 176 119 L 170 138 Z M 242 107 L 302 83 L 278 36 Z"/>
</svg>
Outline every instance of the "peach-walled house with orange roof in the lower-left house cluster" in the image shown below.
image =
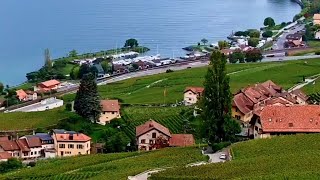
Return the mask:
<svg viewBox="0 0 320 180">
<path fill-rule="evenodd" d="M 55 129 L 52 138 L 58 157 L 90 154 L 91 138 L 85 134 Z"/>
</svg>

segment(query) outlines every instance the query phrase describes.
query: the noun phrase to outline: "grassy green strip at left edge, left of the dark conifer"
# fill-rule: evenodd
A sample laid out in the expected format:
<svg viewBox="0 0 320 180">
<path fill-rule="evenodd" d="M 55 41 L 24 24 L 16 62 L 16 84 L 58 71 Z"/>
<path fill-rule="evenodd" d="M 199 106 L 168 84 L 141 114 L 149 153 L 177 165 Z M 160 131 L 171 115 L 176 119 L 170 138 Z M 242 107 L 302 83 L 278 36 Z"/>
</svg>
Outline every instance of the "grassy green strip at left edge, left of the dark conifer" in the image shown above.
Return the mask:
<svg viewBox="0 0 320 180">
<path fill-rule="evenodd" d="M 74 113 L 68 112 L 62 108 L 43 112 L 13 112 L 0 113 L 0 130 L 24 130 L 46 128 L 57 124 L 60 120 L 70 116 L 76 116 Z"/>
</svg>

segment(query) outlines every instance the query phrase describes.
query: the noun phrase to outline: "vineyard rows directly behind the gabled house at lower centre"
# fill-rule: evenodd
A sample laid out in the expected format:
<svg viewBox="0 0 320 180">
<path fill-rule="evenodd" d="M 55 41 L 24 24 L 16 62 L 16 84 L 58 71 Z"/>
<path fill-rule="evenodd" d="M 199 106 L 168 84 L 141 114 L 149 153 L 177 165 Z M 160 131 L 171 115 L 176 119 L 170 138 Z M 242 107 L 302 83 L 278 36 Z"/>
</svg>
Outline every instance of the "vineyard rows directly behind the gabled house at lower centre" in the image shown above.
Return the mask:
<svg viewBox="0 0 320 180">
<path fill-rule="evenodd" d="M 125 132 L 130 137 L 135 137 L 137 126 L 153 119 L 166 126 L 171 133 L 183 132 L 185 117 L 180 112 L 187 107 L 127 107 L 123 110 L 122 118 L 126 121 Z"/>
</svg>

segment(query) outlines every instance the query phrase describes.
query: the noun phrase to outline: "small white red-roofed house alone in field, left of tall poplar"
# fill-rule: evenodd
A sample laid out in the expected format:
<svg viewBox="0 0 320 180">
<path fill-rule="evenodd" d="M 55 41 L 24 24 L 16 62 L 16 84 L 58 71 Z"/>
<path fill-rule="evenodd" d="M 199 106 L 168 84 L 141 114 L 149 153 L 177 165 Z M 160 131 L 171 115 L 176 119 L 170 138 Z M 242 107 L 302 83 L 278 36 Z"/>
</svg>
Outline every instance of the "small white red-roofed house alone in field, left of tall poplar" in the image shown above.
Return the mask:
<svg viewBox="0 0 320 180">
<path fill-rule="evenodd" d="M 196 104 L 204 91 L 203 87 L 187 87 L 183 92 L 185 105 Z"/>
</svg>

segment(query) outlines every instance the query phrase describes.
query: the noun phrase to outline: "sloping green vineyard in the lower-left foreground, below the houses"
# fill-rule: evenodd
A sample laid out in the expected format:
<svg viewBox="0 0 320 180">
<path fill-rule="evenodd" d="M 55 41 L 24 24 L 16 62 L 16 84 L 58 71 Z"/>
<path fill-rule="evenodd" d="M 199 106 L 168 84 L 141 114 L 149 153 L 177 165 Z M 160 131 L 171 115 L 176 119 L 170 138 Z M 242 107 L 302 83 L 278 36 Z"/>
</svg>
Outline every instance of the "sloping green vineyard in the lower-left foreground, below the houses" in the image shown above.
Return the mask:
<svg viewBox="0 0 320 180">
<path fill-rule="evenodd" d="M 0 175 L 0 179 L 121 180 L 154 168 L 206 161 L 198 148 L 167 148 L 151 152 L 99 154 L 39 161 L 34 168 Z"/>
</svg>

